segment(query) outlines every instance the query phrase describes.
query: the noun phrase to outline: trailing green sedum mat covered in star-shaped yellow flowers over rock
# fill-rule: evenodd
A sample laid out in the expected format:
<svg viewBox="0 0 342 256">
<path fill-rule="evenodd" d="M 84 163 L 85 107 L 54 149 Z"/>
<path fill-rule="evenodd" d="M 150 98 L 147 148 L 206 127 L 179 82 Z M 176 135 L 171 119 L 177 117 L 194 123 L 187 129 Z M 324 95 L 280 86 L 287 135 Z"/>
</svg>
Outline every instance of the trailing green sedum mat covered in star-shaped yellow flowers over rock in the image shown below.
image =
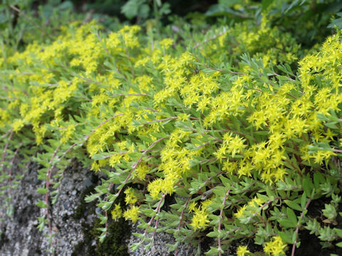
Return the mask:
<svg viewBox="0 0 342 256">
<path fill-rule="evenodd" d="M 199 255 L 296 255 L 307 230 L 341 254 L 342 33 L 308 43 L 277 24 L 279 2 L 205 33 L 180 18 L 157 30 L 75 21 L 48 39 L 26 34 L 19 50 L 2 41 L 2 207 L 11 215 L 16 157 L 37 161 L 38 228 L 52 240 L 48 209 L 76 160 L 106 177 L 86 197 L 103 209 L 100 241 L 124 218 L 145 230 L 132 250 L 167 232 L 175 255 L 204 236 L 214 242 Z"/>
</svg>

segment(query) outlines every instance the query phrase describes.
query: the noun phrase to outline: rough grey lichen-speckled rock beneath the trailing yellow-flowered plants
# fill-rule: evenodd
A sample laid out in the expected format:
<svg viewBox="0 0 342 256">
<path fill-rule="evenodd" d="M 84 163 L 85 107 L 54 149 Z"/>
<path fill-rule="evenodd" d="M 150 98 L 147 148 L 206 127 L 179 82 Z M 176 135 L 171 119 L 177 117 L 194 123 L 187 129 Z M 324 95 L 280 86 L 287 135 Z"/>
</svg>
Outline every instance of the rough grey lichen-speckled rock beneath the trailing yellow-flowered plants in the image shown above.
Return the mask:
<svg viewBox="0 0 342 256">
<path fill-rule="evenodd" d="M 0 256 L 51 255 L 46 251 L 50 247 L 48 238 L 44 235 L 48 234 L 47 225 L 43 232 L 37 229 L 37 217 L 43 215 L 43 210 L 38 208 L 35 203 L 38 199 L 43 201 L 44 196 L 37 193 L 36 189 L 43 187 L 45 183 L 45 181 L 38 180 L 38 169 L 37 164 L 32 164 L 24 174 L 18 188 L 11 191 L 14 206 L 13 216 L 9 218 L 6 215 L 6 209 L 0 207 L 0 218 L 4 219 L 4 221 L 0 220 Z M 14 171 L 18 174 L 20 169 L 16 168 Z M 83 169 L 78 164 L 66 169 L 61 181 L 61 192 L 58 200 L 50 207 L 54 234 L 54 255 L 104 255 L 103 252 L 97 251 L 98 239 L 87 234 L 87 228 L 85 228 L 88 227 L 88 231 L 95 230 L 93 228 L 94 221 L 97 218 L 95 211 L 100 209 L 95 208 L 95 204 L 84 203 L 83 198 L 87 189 L 93 188 L 98 182 L 98 177 L 95 176 L 93 171 Z M 0 198 L 0 201 L 2 200 L 4 198 Z M 3 203 L 1 205 L 4 206 Z M 133 232 L 139 232 L 136 225 L 133 225 L 132 230 Z M 127 243 L 127 248 L 133 242 L 139 241 L 131 233 L 128 233 L 122 239 Z M 124 243 L 124 241 L 122 242 Z M 166 244 L 172 242 L 174 242 L 172 235 L 157 233 L 155 243 L 149 250 L 144 251 L 143 247 L 140 247 L 135 252 L 130 252 L 128 249 L 127 255 L 170 255 L 170 252 L 167 252 L 168 247 Z M 77 248 L 81 248 L 81 251 L 78 252 Z M 121 254 L 108 252 L 105 255 Z M 189 245 L 182 245 L 178 249 L 178 255 L 195 255 L 195 250 Z"/>
</svg>

